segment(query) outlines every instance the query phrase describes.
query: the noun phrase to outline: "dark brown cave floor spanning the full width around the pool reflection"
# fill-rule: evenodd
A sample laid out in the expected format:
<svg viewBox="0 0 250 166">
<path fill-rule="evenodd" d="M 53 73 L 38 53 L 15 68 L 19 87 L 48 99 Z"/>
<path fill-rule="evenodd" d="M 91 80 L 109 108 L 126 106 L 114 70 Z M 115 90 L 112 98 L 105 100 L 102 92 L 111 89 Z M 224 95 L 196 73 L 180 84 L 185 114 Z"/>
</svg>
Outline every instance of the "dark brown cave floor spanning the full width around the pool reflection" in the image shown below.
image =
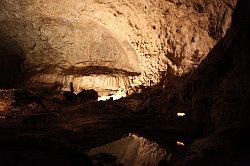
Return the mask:
<svg viewBox="0 0 250 166">
<path fill-rule="evenodd" d="M 249 126 L 221 129 L 197 141 L 199 134 L 188 130 L 188 119 L 178 118 L 174 111 L 142 109 L 145 98 L 79 103 L 65 100 L 60 94 L 33 95 L 24 91 L 21 97 L 15 97 L 15 91 L 0 91 L 2 165 L 92 165 L 90 149 L 129 133 L 166 149 L 175 156 L 173 165 L 209 165 L 217 160 L 221 165 L 237 165 L 241 160 L 250 163 L 246 150 L 239 149 L 248 149 L 246 141 L 241 140 L 248 139 L 243 136 Z M 177 141 L 185 146 L 178 146 Z M 241 155 L 245 158 L 241 159 Z"/>
</svg>

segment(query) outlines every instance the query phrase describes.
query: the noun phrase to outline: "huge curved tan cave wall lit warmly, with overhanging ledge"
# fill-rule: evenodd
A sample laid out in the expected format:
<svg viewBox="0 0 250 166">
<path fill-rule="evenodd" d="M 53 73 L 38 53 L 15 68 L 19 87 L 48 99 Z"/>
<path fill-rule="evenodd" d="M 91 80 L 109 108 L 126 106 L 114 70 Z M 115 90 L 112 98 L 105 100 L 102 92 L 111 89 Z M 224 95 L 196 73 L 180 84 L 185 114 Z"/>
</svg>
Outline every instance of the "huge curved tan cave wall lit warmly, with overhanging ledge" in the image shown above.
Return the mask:
<svg viewBox="0 0 250 166">
<path fill-rule="evenodd" d="M 183 75 L 231 23 L 236 0 L 0 2 L 0 33 L 23 50 L 25 82 L 55 81 L 101 95 Z"/>
</svg>

